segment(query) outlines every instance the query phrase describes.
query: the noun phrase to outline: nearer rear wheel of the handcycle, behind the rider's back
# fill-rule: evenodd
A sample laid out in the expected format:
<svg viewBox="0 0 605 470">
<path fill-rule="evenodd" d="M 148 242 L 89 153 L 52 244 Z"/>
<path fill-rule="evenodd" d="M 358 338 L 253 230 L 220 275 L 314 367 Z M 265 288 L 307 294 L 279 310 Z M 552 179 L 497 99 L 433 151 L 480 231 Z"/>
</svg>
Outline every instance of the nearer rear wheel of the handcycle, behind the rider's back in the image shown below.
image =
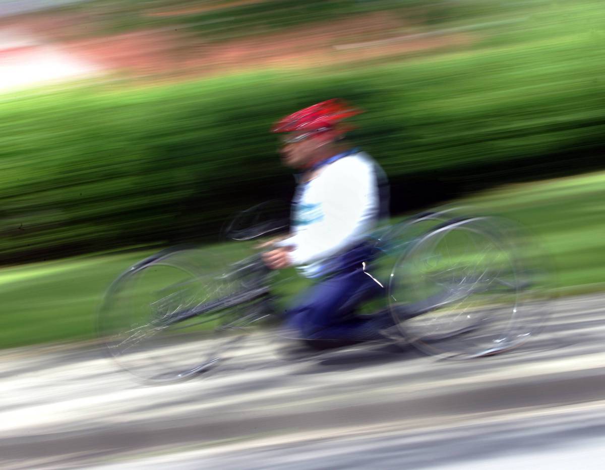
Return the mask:
<svg viewBox="0 0 605 470">
<path fill-rule="evenodd" d="M 493 217 L 448 221 L 397 260 L 390 308 L 411 343 L 432 355 L 471 358 L 512 349 L 540 329 L 546 271 L 532 266 L 535 258 L 510 227 Z"/>
</svg>

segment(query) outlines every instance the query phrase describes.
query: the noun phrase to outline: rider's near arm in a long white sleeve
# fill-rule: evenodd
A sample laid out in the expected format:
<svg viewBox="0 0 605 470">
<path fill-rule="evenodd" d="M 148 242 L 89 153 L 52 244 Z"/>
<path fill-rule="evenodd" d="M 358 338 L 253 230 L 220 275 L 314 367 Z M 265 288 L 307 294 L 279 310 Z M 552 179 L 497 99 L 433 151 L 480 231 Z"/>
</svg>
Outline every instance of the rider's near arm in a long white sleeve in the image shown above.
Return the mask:
<svg viewBox="0 0 605 470">
<path fill-rule="evenodd" d="M 306 265 L 352 246 L 376 221 L 378 191 L 371 167 L 350 160 L 333 164 L 320 176 L 321 221 L 283 243 L 293 246 L 293 265 Z"/>
</svg>

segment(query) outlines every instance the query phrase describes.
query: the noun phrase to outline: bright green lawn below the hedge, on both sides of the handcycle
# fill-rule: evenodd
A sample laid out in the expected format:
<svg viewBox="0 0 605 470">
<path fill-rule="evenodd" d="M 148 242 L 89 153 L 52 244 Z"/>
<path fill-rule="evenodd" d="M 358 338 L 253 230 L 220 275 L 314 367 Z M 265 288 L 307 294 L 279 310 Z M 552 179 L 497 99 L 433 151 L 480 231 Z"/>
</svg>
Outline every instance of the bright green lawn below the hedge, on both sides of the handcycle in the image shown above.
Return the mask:
<svg viewBox="0 0 605 470">
<path fill-rule="evenodd" d="M 605 172 L 509 185 L 453 204 L 522 222 L 551 254 L 562 294 L 599 291 L 605 285 Z M 252 253 L 250 243 L 238 242 L 202 250 L 204 266 L 211 268 Z M 0 347 L 93 338 L 105 289 L 151 253 L 140 249 L 0 269 Z M 306 283 L 295 278 L 281 283 L 280 291 L 293 294 Z"/>
</svg>

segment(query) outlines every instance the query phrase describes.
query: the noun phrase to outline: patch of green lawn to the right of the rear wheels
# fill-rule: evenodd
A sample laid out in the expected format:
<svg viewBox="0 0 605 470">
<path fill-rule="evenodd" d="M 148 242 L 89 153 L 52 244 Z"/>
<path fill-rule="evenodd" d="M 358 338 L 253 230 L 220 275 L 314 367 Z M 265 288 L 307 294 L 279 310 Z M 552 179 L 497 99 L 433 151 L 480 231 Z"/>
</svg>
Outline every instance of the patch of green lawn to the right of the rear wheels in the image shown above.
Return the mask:
<svg viewBox="0 0 605 470">
<path fill-rule="evenodd" d="M 549 253 L 561 292 L 605 286 L 605 172 L 510 185 L 465 202 L 528 227 Z"/>
</svg>

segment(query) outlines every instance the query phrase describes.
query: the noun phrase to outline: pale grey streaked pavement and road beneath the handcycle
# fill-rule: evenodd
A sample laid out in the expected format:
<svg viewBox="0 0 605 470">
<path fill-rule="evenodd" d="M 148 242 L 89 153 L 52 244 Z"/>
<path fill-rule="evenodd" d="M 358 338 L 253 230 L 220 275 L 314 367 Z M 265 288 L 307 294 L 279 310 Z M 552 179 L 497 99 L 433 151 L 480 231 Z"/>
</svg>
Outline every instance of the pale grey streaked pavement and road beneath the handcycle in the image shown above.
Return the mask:
<svg viewBox="0 0 605 470">
<path fill-rule="evenodd" d="M 459 362 L 284 364 L 258 340 L 207 378 L 144 387 L 91 347 L 13 350 L 0 468 L 602 468 L 603 300 L 561 300 L 523 349 Z"/>
</svg>

